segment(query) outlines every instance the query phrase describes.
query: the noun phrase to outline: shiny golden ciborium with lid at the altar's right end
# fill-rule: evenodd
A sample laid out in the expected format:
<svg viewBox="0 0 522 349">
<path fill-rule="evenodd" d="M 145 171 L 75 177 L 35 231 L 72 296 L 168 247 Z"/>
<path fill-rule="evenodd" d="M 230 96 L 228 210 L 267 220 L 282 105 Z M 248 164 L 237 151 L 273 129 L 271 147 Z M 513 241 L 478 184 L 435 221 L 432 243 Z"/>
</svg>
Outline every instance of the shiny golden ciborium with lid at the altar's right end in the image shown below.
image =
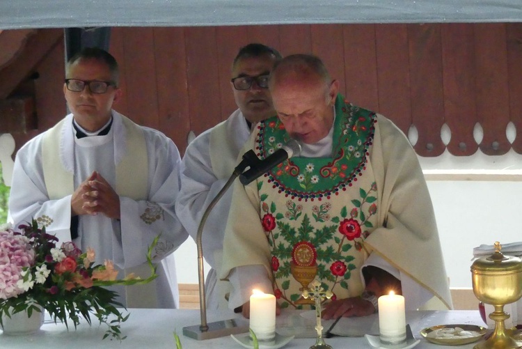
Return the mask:
<svg viewBox="0 0 522 349">
<path fill-rule="evenodd" d="M 489 257 L 479 258 L 471 265 L 473 293 L 478 300 L 492 304 L 495 311 L 489 318 L 495 321 L 495 330 L 491 337 L 474 349 L 507 349 L 520 348 L 509 333 L 504 321 L 509 313 L 504 305 L 516 302 L 522 297 L 522 260 L 514 256 L 504 256 L 499 242 L 495 242 L 495 253 Z"/>
</svg>

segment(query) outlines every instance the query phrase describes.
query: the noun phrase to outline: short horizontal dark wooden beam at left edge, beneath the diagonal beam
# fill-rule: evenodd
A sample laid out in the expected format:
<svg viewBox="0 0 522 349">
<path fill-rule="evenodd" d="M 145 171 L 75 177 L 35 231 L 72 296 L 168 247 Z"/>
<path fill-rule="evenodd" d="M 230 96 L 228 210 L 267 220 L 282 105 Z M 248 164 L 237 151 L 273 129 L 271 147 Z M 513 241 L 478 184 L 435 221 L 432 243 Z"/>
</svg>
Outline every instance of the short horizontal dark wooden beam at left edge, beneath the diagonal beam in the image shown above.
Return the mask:
<svg viewBox="0 0 522 349">
<path fill-rule="evenodd" d="M 33 98 L 0 100 L 0 133 L 25 133 L 35 129 Z"/>
</svg>

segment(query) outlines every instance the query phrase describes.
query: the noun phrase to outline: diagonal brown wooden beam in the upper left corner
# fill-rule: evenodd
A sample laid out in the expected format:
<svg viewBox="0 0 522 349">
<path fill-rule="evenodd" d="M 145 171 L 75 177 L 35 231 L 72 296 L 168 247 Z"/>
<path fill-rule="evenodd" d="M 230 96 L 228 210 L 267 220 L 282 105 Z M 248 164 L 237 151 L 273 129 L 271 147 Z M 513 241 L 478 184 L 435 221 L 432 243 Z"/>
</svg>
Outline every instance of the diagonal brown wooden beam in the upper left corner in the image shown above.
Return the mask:
<svg viewBox="0 0 522 349">
<path fill-rule="evenodd" d="M 0 70 L 0 100 L 8 98 L 11 92 L 33 68 L 46 56 L 58 40 L 63 40 L 63 29 L 40 29 L 27 40 L 24 50 L 10 65 Z M 64 63 L 65 64 L 65 63 Z"/>
</svg>

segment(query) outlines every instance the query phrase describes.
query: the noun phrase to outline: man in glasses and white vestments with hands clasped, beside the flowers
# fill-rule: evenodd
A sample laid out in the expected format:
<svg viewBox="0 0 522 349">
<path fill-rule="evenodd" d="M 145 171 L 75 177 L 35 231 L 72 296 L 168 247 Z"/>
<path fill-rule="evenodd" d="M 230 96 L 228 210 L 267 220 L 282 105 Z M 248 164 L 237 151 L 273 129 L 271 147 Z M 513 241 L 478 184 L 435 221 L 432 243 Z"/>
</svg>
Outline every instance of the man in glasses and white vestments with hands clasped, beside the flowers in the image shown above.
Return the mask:
<svg viewBox="0 0 522 349">
<path fill-rule="evenodd" d="M 118 63 L 102 49 L 74 55 L 63 93 L 71 114 L 17 153 L 9 200 L 15 226 L 38 220 L 60 242 L 95 249 L 96 263 L 112 260 L 123 278 L 150 275 L 148 247 L 161 261 L 187 238 L 175 216 L 180 154 L 171 139 L 112 109 L 122 91 Z M 116 286 L 126 307 L 174 308 L 175 270 L 158 265 L 147 285 Z"/>
</svg>

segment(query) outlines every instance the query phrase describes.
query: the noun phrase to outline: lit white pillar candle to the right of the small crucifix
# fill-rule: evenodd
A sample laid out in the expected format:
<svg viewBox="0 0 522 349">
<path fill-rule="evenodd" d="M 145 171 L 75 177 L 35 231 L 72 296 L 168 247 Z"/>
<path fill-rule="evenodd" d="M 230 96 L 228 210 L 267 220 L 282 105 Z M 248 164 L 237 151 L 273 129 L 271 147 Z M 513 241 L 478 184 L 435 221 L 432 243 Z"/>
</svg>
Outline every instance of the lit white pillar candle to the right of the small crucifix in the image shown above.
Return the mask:
<svg viewBox="0 0 522 349">
<path fill-rule="evenodd" d="M 379 297 L 379 334 L 382 343 L 397 344 L 406 340 L 404 297 L 390 292 Z"/>
</svg>

